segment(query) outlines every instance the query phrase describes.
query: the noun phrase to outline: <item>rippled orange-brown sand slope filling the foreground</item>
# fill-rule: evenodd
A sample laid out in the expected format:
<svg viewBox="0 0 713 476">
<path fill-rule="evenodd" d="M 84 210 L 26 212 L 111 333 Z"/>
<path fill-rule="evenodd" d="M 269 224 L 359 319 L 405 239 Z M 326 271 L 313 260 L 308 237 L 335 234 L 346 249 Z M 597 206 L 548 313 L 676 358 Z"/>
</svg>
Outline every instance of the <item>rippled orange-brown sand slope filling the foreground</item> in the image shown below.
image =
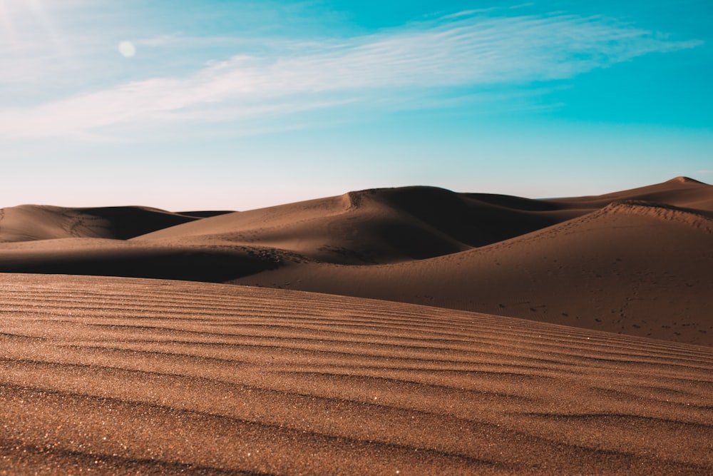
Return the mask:
<svg viewBox="0 0 713 476">
<path fill-rule="evenodd" d="M 713 471 L 713 351 L 357 298 L 0 275 L 8 474 Z"/>
</svg>

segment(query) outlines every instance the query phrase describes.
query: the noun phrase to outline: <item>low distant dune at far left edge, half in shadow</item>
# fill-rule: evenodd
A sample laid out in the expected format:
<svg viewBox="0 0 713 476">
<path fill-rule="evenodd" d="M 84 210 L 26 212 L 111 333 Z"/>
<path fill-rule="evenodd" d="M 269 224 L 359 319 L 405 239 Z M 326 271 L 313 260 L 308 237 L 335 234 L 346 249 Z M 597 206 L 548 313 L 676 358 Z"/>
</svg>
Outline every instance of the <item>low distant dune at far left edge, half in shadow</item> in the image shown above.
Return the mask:
<svg viewBox="0 0 713 476">
<path fill-rule="evenodd" d="M 138 206 L 65 208 L 20 205 L 0 211 L 0 242 L 53 238 L 124 240 L 196 219 L 195 216 Z"/>
</svg>

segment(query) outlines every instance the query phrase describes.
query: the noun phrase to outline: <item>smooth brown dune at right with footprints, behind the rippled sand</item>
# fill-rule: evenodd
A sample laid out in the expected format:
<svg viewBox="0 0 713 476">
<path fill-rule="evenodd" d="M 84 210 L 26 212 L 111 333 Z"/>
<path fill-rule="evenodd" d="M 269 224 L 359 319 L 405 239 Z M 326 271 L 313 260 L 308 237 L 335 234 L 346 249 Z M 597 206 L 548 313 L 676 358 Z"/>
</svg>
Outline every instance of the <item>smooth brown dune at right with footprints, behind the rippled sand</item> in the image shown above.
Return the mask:
<svg viewBox="0 0 713 476">
<path fill-rule="evenodd" d="M 399 300 L 713 345 L 713 219 L 641 201 L 452 255 L 287 265 L 236 283 Z"/>
</svg>

